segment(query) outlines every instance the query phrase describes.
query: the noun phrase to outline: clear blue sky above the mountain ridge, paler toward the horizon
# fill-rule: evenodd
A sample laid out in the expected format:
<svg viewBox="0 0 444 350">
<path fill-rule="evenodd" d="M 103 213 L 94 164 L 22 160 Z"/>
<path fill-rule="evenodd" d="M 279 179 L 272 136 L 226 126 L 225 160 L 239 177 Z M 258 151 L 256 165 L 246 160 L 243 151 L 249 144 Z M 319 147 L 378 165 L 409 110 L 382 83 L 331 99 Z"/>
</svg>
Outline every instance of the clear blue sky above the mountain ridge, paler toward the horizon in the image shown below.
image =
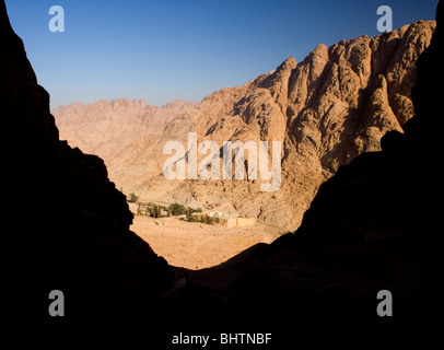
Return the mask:
<svg viewBox="0 0 444 350">
<path fill-rule="evenodd" d="M 151 105 L 242 85 L 297 61 L 318 44 L 375 36 L 376 9 L 393 26 L 434 20 L 437 0 L 5 0 L 51 107 L 147 98 Z M 51 33 L 51 5 L 65 33 Z"/>
</svg>

